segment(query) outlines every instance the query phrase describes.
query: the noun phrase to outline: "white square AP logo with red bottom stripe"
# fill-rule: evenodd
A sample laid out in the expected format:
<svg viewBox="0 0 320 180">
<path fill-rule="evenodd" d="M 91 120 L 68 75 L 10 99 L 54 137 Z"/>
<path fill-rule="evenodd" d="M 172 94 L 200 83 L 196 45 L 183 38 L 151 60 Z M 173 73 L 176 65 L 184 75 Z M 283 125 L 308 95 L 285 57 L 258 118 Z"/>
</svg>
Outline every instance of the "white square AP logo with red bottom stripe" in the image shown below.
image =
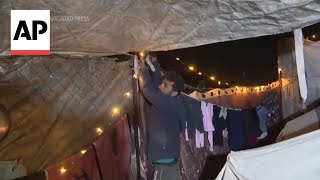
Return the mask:
<svg viewBox="0 0 320 180">
<path fill-rule="evenodd" d="M 11 55 L 50 55 L 50 10 L 11 10 Z"/>
</svg>

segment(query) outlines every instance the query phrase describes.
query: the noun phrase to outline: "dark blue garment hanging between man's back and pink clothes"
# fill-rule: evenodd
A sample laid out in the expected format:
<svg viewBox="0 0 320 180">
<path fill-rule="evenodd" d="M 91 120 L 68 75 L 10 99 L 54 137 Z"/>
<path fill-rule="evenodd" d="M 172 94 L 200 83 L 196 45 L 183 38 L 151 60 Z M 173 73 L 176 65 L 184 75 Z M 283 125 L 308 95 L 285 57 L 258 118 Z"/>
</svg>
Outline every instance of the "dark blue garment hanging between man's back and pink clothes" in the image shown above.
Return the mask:
<svg viewBox="0 0 320 180">
<path fill-rule="evenodd" d="M 185 107 L 185 121 L 187 121 L 186 131 L 189 137 L 194 137 L 196 129 L 203 133 L 203 122 L 200 101 L 187 95 L 181 94 L 181 99 Z"/>
</svg>

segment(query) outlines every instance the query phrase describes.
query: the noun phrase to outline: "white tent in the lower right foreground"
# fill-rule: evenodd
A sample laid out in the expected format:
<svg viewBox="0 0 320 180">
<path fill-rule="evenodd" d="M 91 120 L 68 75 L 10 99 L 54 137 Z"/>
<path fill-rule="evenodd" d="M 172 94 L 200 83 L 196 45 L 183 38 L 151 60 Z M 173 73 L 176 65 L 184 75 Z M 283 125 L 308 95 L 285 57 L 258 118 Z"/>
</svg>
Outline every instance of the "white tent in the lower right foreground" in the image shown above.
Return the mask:
<svg viewBox="0 0 320 180">
<path fill-rule="evenodd" d="M 231 152 L 216 180 L 319 179 L 320 130 L 269 146 Z"/>
</svg>

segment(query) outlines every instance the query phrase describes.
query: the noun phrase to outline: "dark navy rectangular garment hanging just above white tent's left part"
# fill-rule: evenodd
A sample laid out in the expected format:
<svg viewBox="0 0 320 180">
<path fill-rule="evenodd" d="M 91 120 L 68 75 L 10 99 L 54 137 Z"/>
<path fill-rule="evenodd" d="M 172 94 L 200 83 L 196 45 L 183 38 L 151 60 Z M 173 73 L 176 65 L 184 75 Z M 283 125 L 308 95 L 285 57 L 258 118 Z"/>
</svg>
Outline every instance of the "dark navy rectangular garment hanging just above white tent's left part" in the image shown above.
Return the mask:
<svg viewBox="0 0 320 180">
<path fill-rule="evenodd" d="M 227 122 L 230 149 L 232 151 L 243 150 L 245 146 L 242 127 L 242 112 L 229 109 Z"/>
</svg>

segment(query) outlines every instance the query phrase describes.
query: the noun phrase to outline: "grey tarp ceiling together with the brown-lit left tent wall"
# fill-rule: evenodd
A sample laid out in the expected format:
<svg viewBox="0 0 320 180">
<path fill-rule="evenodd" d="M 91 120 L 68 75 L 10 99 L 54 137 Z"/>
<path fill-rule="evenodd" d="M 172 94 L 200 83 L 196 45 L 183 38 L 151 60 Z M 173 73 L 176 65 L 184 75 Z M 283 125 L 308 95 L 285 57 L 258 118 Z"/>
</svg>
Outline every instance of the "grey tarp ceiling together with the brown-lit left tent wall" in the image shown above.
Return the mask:
<svg viewBox="0 0 320 180">
<path fill-rule="evenodd" d="M 9 56 L 10 10 L 51 10 L 49 57 Z M 0 2 L 0 104 L 11 114 L 0 159 L 24 155 L 28 173 L 77 153 L 112 127 L 113 108 L 132 112 L 125 57 L 290 32 L 320 22 L 316 0 Z M 68 21 L 67 17 L 81 16 Z"/>
</svg>

